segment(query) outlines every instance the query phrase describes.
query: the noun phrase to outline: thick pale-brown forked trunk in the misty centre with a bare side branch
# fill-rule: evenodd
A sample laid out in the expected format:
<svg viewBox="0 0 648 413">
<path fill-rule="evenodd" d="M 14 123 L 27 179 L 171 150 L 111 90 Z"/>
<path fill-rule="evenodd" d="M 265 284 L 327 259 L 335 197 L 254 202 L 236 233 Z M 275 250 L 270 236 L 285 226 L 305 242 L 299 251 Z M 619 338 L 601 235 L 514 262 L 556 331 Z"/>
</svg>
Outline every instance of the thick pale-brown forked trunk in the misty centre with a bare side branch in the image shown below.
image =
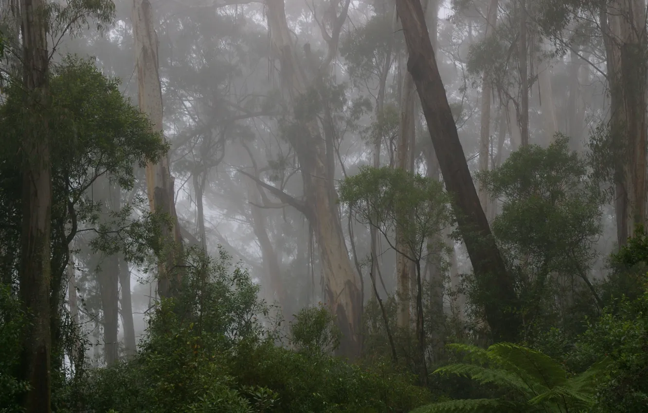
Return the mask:
<svg viewBox="0 0 648 413">
<path fill-rule="evenodd" d="M 345 2 L 345 10 L 335 22 L 334 33 L 329 35 L 329 52 L 323 67 L 316 74 L 321 78 L 329 73 L 330 61 L 336 54 L 337 41 L 343 21 L 346 19 L 350 1 Z M 284 95 L 295 109 L 299 107 L 299 98 L 308 92 L 311 84 L 306 80 L 303 69 L 295 54 L 283 0 L 266 2 L 268 25 L 270 26 L 273 51 L 281 63 L 281 78 Z M 317 79 L 316 79 L 317 80 Z M 299 122 L 294 116 L 291 122 Z M 332 179 L 334 171 L 330 170 L 325 139 L 319 131 L 316 119 L 301 122 L 303 132 L 291 140 L 301 166 L 303 186 L 310 213 L 310 220 L 319 246 L 319 256 L 327 282 L 327 303 L 337 317 L 343 339 L 339 352 L 354 359 L 361 348 L 362 302 L 360 294 L 360 276 L 354 271 L 347 251 L 342 232 L 336 200 L 332 199 Z"/>
</svg>

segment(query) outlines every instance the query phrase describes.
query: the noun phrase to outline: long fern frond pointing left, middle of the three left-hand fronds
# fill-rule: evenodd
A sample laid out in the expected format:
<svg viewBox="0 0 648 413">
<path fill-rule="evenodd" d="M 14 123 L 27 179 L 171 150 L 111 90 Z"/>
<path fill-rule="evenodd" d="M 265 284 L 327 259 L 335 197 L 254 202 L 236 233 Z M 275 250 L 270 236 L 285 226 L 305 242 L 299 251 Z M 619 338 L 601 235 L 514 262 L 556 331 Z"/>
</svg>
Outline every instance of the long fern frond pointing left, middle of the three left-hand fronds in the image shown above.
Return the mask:
<svg viewBox="0 0 648 413">
<path fill-rule="evenodd" d="M 435 370 L 434 373 L 454 374 L 461 377 L 469 377 L 470 379 L 478 381 L 481 385 L 492 384 L 500 386 L 506 390 L 515 390 L 520 393 L 520 396 L 526 397 L 531 397 L 533 394 L 538 394 L 547 390 L 542 386 L 536 386 L 535 383 L 531 383 L 531 386 L 529 386 L 519 375 L 501 368 L 485 368 L 475 366 L 474 364 L 459 363 L 443 366 Z"/>
</svg>

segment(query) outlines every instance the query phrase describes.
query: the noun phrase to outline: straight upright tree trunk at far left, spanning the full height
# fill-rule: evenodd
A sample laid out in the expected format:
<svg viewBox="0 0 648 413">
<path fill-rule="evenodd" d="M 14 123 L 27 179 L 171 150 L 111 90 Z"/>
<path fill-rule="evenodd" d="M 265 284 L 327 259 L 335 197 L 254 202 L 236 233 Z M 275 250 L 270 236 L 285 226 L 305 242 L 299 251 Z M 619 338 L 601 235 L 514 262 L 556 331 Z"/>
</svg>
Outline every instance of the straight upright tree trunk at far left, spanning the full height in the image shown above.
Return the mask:
<svg viewBox="0 0 648 413">
<path fill-rule="evenodd" d="M 23 226 L 21 231 L 20 298 L 29 312 L 23 335 L 21 379 L 29 390 L 26 413 L 51 412 L 50 230 L 52 164 L 49 150 L 49 54 L 44 0 L 21 0 L 23 17 L 23 90 L 30 122 L 23 135 Z"/>
</svg>

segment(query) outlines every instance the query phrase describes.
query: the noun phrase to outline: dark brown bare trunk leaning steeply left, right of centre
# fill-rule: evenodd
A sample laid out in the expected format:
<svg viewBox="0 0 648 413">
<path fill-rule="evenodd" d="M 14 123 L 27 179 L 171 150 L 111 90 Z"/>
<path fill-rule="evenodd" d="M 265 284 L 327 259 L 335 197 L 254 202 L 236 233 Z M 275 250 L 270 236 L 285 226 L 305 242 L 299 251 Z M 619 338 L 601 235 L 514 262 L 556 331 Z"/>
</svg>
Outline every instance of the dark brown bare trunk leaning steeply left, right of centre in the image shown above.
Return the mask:
<svg viewBox="0 0 648 413">
<path fill-rule="evenodd" d="M 457 224 L 466 243 L 495 340 L 515 341 L 520 327 L 513 279 L 495 244 L 459 142 L 457 128 L 439 75 L 428 28 L 418 0 L 397 0 L 416 84 L 446 189 L 454 197 Z"/>
</svg>

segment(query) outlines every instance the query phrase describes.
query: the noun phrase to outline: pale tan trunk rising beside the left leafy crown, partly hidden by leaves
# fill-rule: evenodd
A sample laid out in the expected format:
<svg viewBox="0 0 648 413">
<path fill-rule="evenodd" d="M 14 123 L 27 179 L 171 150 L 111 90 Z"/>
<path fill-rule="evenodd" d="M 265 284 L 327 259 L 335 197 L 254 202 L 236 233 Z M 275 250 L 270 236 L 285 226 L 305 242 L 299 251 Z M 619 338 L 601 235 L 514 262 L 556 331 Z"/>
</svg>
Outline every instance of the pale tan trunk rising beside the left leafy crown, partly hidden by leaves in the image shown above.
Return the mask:
<svg viewBox="0 0 648 413">
<path fill-rule="evenodd" d="M 148 115 L 154 131 L 163 135 L 158 42 L 149 0 L 133 0 L 132 19 L 139 109 Z M 174 266 L 176 258 L 182 253 L 182 238 L 174 201 L 174 181 L 170 173 L 168 154 L 163 155 L 157 164 L 150 162 L 146 164 L 146 191 L 151 212 L 165 214 L 172 222 L 170 230 L 163 229 L 167 251 L 165 251 L 165 260 L 160 260 L 158 265 L 158 290 L 159 295 L 164 298 L 177 293 L 175 289 L 180 284 L 181 271 L 174 271 Z"/>
</svg>

